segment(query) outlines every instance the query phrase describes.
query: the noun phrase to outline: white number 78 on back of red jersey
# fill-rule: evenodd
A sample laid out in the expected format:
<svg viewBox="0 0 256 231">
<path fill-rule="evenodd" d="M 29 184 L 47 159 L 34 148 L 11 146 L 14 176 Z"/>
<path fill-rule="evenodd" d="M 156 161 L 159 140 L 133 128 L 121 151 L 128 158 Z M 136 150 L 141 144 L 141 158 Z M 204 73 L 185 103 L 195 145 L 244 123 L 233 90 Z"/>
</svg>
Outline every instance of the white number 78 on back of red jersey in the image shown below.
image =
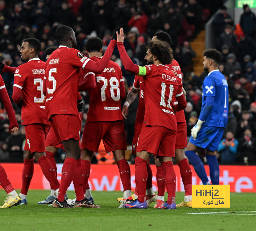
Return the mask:
<svg viewBox="0 0 256 231">
<path fill-rule="evenodd" d="M 101 101 L 106 101 L 105 91 L 108 86 L 108 79 L 106 79 L 105 77 L 102 77 L 102 76 L 97 76 L 96 79 L 97 79 L 97 83 L 99 83 L 100 81 L 103 82 L 103 86 L 100 89 Z M 111 98 L 114 99 L 115 101 L 119 101 L 120 100 L 120 89 L 119 89 L 118 79 L 115 77 L 111 77 L 109 80 L 109 84 L 110 84 Z M 116 90 L 116 96 L 115 96 L 115 90 Z"/>
</svg>

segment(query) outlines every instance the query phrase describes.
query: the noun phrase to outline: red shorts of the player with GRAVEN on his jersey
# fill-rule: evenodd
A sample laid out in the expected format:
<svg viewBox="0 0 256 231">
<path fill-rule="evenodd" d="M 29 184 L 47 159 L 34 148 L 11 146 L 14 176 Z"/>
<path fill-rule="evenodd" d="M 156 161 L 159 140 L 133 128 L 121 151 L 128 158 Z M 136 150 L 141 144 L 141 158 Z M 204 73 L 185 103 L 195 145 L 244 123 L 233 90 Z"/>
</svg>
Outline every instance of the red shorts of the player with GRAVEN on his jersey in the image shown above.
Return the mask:
<svg viewBox="0 0 256 231">
<path fill-rule="evenodd" d="M 24 150 L 33 152 L 45 152 L 45 139 L 49 131 L 47 124 L 25 125 L 26 142 Z"/>
</svg>

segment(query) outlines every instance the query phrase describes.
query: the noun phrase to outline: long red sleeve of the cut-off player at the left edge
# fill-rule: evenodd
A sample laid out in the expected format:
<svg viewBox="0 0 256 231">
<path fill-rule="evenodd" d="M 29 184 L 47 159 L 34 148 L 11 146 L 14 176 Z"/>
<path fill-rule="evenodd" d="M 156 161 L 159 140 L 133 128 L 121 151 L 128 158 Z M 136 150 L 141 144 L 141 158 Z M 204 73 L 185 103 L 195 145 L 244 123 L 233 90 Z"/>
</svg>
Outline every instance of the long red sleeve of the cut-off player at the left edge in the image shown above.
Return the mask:
<svg viewBox="0 0 256 231">
<path fill-rule="evenodd" d="M 12 104 L 10 102 L 10 98 L 5 88 L 5 83 L 1 75 L 0 75 L 0 99 L 2 100 L 4 107 L 6 109 L 6 112 L 8 114 L 8 118 L 10 121 L 10 126 L 9 126 L 9 132 L 10 132 L 12 128 L 19 127 L 19 126 L 15 117 L 15 113 L 13 111 Z"/>
</svg>

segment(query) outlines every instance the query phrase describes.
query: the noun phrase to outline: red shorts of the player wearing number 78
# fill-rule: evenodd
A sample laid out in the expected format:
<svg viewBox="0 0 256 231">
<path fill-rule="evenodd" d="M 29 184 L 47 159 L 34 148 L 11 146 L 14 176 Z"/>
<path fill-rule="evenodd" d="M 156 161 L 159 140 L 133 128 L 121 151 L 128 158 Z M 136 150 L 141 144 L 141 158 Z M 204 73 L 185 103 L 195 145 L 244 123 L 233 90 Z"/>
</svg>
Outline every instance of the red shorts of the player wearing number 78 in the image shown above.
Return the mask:
<svg viewBox="0 0 256 231">
<path fill-rule="evenodd" d="M 81 149 L 98 152 L 101 140 L 106 152 L 126 150 L 123 121 L 87 122 L 84 126 Z"/>
</svg>

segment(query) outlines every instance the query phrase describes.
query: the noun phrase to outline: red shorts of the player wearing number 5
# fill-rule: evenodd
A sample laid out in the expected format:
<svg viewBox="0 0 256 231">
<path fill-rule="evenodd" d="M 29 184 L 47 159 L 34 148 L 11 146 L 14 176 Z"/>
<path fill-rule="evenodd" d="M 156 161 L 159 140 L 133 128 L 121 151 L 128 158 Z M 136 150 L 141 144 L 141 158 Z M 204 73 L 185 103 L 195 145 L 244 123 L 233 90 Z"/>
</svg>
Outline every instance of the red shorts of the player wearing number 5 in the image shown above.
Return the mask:
<svg viewBox="0 0 256 231">
<path fill-rule="evenodd" d="M 50 124 L 54 130 L 58 143 L 69 139 L 80 140 L 82 122 L 78 114 L 52 115 L 50 118 Z"/>
</svg>

